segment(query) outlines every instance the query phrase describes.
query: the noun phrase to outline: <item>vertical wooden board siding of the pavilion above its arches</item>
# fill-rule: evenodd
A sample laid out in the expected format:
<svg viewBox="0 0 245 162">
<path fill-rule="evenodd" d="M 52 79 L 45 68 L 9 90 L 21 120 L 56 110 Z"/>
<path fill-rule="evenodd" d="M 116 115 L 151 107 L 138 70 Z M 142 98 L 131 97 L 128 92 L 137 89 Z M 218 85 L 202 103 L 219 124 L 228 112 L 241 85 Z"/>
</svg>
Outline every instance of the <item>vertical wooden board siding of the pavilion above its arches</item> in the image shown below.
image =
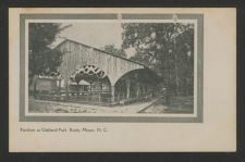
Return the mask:
<svg viewBox="0 0 245 162">
<path fill-rule="evenodd" d="M 108 75 L 111 86 L 114 86 L 117 80 L 124 74 L 134 70 L 144 68 L 144 65 L 142 64 L 106 53 L 72 40 L 64 40 L 57 47 L 57 49 L 64 53 L 63 62 L 59 67 L 61 75 L 63 76 L 65 76 L 66 73 L 66 59 L 69 77 L 75 70 L 83 65 L 96 65 Z"/>
</svg>

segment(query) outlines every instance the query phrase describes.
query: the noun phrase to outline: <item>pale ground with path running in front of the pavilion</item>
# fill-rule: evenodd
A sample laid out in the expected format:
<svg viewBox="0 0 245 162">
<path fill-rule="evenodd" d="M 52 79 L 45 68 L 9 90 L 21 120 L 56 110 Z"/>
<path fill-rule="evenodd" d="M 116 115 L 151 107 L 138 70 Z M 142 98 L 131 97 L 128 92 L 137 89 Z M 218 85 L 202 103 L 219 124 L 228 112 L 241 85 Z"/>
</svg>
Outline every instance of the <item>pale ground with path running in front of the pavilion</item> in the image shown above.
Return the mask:
<svg viewBox="0 0 245 162">
<path fill-rule="evenodd" d="M 74 102 L 56 102 L 29 99 L 30 113 L 193 113 L 193 96 L 174 97 L 170 105 L 164 98 L 128 105 L 100 107 Z"/>
</svg>

